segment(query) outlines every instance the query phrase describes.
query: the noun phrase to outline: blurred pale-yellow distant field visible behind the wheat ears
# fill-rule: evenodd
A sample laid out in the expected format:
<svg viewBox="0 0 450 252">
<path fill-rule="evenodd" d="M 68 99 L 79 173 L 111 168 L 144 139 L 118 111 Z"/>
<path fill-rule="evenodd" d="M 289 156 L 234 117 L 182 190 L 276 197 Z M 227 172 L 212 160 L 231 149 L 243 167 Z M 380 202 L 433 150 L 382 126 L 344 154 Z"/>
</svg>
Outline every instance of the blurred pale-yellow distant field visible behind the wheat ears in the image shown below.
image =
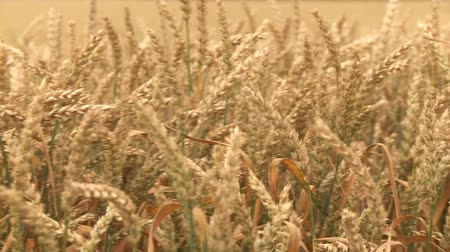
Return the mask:
<svg viewBox="0 0 450 252">
<path fill-rule="evenodd" d="M 273 17 L 272 8 L 265 1 L 249 1 L 255 10 L 259 20 L 265 17 Z M 342 14 L 346 14 L 350 20 L 358 21 L 361 29 L 370 30 L 377 27 L 385 11 L 386 1 L 306 1 L 302 3 L 302 15 L 307 22 L 311 20 L 311 11 L 319 9 L 321 14 L 328 20 L 336 20 Z M 442 4 L 441 18 L 444 22 L 450 22 L 450 3 Z M 292 11 L 289 2 L 279 3 L 283 14 Z M 117 29 L 123 26 L 123 8 L 128 6 L 137 20 L 142 20 L 138 27 L 158 27 L 158 14 L 155 1 L 121 1 L 108 0 L 99 1 L 99 15 L 110 17 Z M 169 6 L 178 14 L 178 2 L 171 1 Z M 88 1 L 61 1 L 61 0 L 0 0 L 0 38 L 13 42 L 14 39 L 25 29 L 27 24 L 39 15 L 45 15 L 51 8 L 55 8 L 63 14 L 64 21 L 74 19 L 78 22 L 78 29 L 84 28 L 87 20 Z M 230 23 L 245 18 L 240 1 L 227 1 L 228 17 Z M 407 18 L 408 26 L 413 26 L 418 20 L 423 20 L 429 12 L 429 1 L 402 2 L 401 15 Z M 216 24 L 215 4 L 209 3 L 209 23 Z M 142 29 L 141 29 L 142 30 Z"/>
</svg>

